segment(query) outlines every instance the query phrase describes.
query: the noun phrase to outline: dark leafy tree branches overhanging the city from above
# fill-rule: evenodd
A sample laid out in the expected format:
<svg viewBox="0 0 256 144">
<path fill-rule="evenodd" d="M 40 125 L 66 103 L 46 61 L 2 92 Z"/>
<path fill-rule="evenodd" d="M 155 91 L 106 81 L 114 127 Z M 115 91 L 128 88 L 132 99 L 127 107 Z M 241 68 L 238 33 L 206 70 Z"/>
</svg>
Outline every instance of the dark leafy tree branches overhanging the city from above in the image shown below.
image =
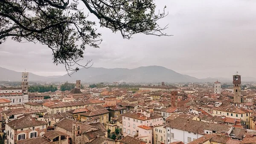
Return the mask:
<svg viewBox="0 0 256 144">
<path fill-rule="evenodd" d="M 17 42 L 47 45 L 53 63 L 64 64 L 73 73 L 81 66 L 90 67 L 91 60 L 85 65 L 78 62 L 86 46 L 99 48 L 102 41 L 89 14 L 99 19 L 101 27 L 126 39 L 137 33 L 166 35 L 167 27 L 161 28 L 157 20 L 168 13 L 155 8 L 154 0 L 0 0 L 0 43 L 12 37 Z"/>
</svg>

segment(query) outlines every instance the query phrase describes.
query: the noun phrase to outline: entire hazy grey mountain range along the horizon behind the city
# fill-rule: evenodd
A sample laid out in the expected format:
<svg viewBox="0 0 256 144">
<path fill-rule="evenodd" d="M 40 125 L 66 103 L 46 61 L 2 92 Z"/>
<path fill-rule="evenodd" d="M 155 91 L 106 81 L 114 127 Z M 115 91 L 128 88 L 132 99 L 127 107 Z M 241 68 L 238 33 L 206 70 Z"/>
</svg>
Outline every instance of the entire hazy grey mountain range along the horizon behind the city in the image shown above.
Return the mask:
<svg viewBox="0 0 256 144">
<path fill-rule="evenodd" d="M 256 81 L 256 78 L 242 77 L 242 81 Z M 165 81 L 168 83 L 178 82 L 231 82 L 232 78 L 203 78 L 198 79 L 189 75 L 177 73 L 163 66 L 141 66 L 135 69 L 125 68 L 95 68 L 80 69 L 71 77 L 69 75 L 62 76 L 40 76 L 29 73 L 29 81 L 48 81 L 48 82 L 74 82 L 81 80 L 83 83 L 99 83 L 99 82 L 132 82 L 132 83 L 154 83 Z M 21 72 L 5 69 L 0 67 L 0 81 L 21 81 Z"/>
</svg>

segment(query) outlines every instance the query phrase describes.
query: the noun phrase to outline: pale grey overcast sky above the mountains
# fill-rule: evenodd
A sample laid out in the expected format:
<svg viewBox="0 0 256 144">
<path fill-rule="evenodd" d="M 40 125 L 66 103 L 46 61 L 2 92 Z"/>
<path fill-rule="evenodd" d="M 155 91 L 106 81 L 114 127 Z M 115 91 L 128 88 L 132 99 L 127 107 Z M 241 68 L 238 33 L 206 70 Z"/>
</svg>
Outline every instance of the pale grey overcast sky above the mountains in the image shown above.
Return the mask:
<svg viewBox="0 0 256 144">
<path fill-rule="evenodd" d="M 197 78 L 230 78 L 236 71 L 256 77 L 256 0 L 155 0 L 157 9 L 169 15 L 159 21 L 169 24 L 172 37 L 137 34 L 123 39 L 120 33 L 99 28 L 104 40 L 100 49 L 87 48 L 85 60 L 94 67 L 137 68 L 158 65 Z M 91 16 L 96 20 L 96 17 Z M 0 67 L 38 75 L 64 75 L 63 65 L 52 63 L 47 46 L 0 44 Z"/>
</svg>

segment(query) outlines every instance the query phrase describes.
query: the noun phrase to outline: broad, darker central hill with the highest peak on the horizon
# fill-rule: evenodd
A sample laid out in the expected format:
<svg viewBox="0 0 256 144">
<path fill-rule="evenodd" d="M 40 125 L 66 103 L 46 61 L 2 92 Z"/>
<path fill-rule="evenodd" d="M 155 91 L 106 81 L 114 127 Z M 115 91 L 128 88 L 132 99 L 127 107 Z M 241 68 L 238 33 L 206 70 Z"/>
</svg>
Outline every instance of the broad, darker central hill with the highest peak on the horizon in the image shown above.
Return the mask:
<svg viewBox="0 0 256 144">
<path fill-rule="evenodd" d="M 73 81 L 79 79 L 83 82 L 195 82 L 198 78 L 182 75 L 163 66 L 141 66 L 136 69 L 80 69 L 70 78 L 69 75 L 53 79 L 53 81 Z"/>
</svg>

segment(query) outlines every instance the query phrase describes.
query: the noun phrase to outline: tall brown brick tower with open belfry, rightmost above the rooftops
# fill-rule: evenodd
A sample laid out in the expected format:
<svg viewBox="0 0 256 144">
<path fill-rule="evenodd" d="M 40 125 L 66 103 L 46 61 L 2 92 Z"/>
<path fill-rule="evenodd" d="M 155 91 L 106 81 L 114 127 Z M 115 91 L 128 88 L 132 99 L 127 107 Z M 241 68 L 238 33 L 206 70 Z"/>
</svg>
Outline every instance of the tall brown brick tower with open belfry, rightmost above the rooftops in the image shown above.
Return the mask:
<svg viewBox="0 0 256 144">
<path fill-rule="evenodd" d="M 233 75 L 234 103 L 241 103 L 241 75 Z"/>
</svg>

